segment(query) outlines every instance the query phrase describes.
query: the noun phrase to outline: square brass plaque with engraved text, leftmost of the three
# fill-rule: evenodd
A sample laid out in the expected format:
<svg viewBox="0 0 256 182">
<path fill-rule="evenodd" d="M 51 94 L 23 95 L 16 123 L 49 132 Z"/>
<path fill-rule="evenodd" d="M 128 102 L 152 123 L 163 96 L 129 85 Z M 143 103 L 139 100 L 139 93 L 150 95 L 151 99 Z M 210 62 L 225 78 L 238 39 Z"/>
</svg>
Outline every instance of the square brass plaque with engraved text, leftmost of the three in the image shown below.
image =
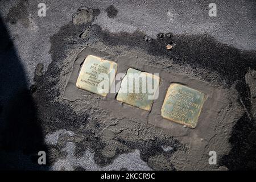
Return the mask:
<svg viewBox="0 0 256 182">
<path fill-rule="evenodd" d="M 76 86 L 106 97 L 116 72 L 117 63 L 88 55 L 82 64 Z"/>
</svg>

